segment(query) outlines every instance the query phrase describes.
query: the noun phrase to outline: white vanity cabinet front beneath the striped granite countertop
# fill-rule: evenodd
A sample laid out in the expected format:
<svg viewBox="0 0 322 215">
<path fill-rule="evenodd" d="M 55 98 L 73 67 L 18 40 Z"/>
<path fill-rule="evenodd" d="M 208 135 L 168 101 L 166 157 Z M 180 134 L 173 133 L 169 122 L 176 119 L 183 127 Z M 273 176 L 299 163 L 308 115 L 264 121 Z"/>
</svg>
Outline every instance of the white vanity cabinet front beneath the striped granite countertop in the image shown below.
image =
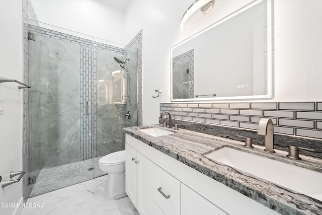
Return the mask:
<svg viewBox="0 0 322 215">
<path fill-rule="evenodd" d="M 141 215 L 278 214 L 128 134 L 125 149 L 126 193 Z"/>
</svg>

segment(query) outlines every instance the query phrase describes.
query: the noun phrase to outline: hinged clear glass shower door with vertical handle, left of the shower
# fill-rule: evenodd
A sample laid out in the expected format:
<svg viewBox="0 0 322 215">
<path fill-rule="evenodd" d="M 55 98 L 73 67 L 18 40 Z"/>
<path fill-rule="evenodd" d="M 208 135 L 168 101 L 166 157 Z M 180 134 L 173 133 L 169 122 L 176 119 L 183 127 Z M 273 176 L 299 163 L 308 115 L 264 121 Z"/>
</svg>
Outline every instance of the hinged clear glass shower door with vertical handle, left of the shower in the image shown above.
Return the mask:
<svg viewBox="0 0 322 215">
<path fill-rule="evenodd" d="M 30 197 L 93 178 L 92 45 L 63 33 L 30 26 Z M 60 37 L 59 37 L 60 36 Z M 68 41 L 69 39 L 69 41 Z M 84 140 L 85 148 L 80 147 Z M 85 158 L 85 159 L 84 159 Z"/>
</svg>

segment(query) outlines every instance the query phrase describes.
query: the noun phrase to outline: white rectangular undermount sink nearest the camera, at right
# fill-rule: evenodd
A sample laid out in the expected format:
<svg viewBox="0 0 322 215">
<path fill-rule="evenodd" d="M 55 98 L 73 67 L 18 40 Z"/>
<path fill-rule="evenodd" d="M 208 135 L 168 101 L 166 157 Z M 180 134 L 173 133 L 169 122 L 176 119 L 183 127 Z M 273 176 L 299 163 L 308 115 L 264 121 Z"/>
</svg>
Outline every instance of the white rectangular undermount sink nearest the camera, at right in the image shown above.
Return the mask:
<svg viewBox="0 0 322 215">
<path fill-rule="evenodd" d="M 229 147 L 205 155 L 278 185 L 322 201 L 322 173 Z"/>
</svg>

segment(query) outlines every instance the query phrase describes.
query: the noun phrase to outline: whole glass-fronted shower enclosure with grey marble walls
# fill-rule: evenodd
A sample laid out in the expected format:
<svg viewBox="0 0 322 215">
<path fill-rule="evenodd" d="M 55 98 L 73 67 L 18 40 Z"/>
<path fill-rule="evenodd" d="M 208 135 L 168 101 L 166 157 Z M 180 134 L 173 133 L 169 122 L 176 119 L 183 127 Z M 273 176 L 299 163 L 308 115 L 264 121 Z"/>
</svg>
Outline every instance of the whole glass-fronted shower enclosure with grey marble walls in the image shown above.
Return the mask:
<svg viewBox="0 0 322 215">
<path fill-rule="evenodd" d="M 122 128 L 138 125 L 138 49 L 36 22 L 29 32 L 32 197 L 104 175 L 98 160 L 125 149 Z"/>
</svg>

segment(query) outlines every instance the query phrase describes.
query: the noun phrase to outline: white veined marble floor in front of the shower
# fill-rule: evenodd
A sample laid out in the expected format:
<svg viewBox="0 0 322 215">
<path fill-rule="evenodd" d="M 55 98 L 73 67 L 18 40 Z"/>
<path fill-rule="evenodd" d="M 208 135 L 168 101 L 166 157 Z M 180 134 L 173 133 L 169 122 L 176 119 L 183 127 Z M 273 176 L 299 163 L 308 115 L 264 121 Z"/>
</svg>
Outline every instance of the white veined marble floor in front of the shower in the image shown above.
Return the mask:
<svg viewBox="0 0 322 215">
<path fill-rule="evenodd" d="M 129 197 L 109 200 L 106 192 L 108 176 L 102 176 L 28 199 L 22 215 L 119 215 L 139 214 Z"/>
</svg>

